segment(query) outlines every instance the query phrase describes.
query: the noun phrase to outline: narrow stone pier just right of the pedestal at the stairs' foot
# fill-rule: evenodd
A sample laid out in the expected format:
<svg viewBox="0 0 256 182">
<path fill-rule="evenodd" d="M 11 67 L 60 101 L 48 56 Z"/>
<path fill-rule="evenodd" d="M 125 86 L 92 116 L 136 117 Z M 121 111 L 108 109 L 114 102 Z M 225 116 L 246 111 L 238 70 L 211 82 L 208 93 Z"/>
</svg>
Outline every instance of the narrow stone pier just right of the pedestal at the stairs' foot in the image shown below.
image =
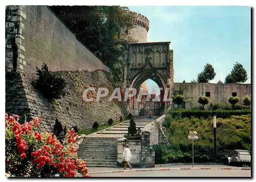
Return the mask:
<svg viewBox="0 0 256 182">
<path fill-rule="evenodd" d="M 155 151 L 150 145 L 150 132 L 142 132 L 140 167 L 155 167 Z"/>
</svg>

